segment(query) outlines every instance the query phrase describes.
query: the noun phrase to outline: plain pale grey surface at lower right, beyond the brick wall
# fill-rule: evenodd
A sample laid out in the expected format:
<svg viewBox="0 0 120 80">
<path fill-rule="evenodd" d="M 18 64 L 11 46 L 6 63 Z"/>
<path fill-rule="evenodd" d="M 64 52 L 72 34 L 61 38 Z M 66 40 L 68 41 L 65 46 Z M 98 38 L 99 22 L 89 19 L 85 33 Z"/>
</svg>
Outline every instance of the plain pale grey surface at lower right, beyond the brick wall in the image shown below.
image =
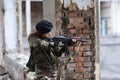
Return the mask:
<svg viewBox="0 0 120 80">
<path fill-rule="evenodd" d="M 100 49 L 101 80 L 120 80 L 120 45 Z"/>
</svg>

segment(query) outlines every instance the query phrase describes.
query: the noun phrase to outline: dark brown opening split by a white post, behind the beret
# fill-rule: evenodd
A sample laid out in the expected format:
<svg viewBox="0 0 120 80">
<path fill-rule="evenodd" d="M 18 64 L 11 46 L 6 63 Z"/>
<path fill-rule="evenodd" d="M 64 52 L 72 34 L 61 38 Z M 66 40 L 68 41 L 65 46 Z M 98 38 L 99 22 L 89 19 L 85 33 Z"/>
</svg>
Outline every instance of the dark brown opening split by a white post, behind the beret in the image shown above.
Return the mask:
<svg viewBox="0 0 120 80">
<path fill-rule="evenodd" d="M 31 32 L 34 31 L 37 22 L 43 19 L 43 2 L 31 1 Z M 22 27 L 23 37 L 26 37 L 26 1 L 22 1 Z"/>
</svg>

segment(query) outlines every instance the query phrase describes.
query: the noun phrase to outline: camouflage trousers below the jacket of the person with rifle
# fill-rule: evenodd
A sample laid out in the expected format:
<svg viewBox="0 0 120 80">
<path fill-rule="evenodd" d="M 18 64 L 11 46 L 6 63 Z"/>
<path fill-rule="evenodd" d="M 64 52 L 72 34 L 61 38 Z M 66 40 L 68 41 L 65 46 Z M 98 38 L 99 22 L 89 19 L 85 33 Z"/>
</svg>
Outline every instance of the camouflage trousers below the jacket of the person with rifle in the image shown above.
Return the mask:
<svg viewBox="0 0 120 80">
<path fill-rule="evenodd" d="M 35 68 L 35 74 L 36 78 L 34 80 L 56 80 L 57 70 L 52 68 Z"/>
</svg>

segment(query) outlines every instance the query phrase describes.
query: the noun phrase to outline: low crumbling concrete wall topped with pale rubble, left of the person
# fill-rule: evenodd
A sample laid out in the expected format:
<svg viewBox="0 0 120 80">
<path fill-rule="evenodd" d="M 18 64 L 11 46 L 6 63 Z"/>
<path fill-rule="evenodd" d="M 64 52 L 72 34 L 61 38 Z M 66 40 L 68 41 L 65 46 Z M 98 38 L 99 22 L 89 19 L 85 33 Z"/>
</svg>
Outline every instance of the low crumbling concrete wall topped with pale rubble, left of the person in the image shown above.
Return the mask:
<svg viewBox="0 0 120 80">
<path fill-rule="evenodd" d="M 25 80 L 28 59 L 28 56 L 20 53 L 9 53 L 4 56 L 4 68 L 13 80 Z"/>
</svg>

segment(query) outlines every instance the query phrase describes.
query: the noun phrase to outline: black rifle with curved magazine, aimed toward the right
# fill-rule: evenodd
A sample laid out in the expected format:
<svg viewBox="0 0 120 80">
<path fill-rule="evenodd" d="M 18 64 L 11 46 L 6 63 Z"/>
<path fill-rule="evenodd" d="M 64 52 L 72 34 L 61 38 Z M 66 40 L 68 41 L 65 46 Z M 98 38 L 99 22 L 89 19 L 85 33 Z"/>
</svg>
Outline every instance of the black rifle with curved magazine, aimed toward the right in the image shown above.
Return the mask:
<svg viewBox="0 0 120 80">
<path fill-rule="evenodd" d="M 82 39 L 79 37 L 70 37 L 70 36 L 55 36 L 52 38 L 52 42 L 54 43 L 55 46 L 62 46 L 65 47 L 65 52 L 67 55 L 70 55 L 71 52 L 68 49 L 69 46 L 73 46 L 77 42 L 86 42 L 86 39 Z"/>
</svg>

